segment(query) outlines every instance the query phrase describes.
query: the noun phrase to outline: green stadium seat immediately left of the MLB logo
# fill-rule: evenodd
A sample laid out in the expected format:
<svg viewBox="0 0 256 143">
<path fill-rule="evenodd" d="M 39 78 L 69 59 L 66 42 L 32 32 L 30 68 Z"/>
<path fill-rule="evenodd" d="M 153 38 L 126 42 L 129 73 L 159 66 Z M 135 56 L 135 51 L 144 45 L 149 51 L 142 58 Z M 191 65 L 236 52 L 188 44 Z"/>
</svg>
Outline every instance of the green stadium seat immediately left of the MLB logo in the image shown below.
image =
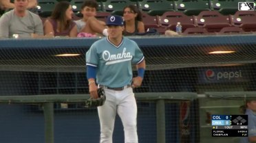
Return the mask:
<svg viewBox="0 0 256 143">
<path fill-rule="evenodd" d="M 211 10 L 217 10 L 223 15 L 235 14 L 238 10 L 238 2 L 244 0 L 211 0 Z"/>
</svg>

